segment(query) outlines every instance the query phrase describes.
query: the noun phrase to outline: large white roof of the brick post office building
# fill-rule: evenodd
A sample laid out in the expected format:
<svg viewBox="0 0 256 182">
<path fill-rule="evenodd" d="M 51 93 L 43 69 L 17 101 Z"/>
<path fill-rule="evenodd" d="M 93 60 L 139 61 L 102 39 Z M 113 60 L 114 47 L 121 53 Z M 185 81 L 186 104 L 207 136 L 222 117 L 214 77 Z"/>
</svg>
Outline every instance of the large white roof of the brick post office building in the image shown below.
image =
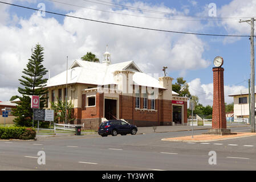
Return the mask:
<svg viewBox="0 0 256 182">
<path fill-rule="evenodd" d="M 146 73 L 143 73 L 133 61 L 125 61 L 117 64 L 102 64 L 90 61 L 77 59 L 68 69 L 50 78 L 47 81 L 47 86 L 65 85 L 66 77 L 67 84 L 81 83 L 92 85 L 108 85 L 117 84 L 114 80 L 115 71 L 129 70 L 135 72 L 133 75 L 133 83 L 142 86 L 151 86 L 154 88 L 162 88 L 159 80 L 153 78 Z M 68 72 L 68 73 L 67 73 Z M 68 76 L 67 76 L 68 75 Z M 176 93 L 177 94 L 177 93 Z"/>
</svg>

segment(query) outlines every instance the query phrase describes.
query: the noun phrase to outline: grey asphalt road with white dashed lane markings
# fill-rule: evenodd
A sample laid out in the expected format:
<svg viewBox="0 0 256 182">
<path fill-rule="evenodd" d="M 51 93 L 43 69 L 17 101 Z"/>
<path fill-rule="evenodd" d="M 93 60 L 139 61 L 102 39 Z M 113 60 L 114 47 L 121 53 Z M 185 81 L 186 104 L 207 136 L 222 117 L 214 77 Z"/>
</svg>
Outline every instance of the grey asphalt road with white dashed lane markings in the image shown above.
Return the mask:
<svg viewBox="0 0 256 182">
<path fill-rule="evenodd" d="M 250 127 L 231 131 L 249 132 Z M 205 130 L 194 131 L 201 134 Z M 255 170 L 256 137 L 207 143 L 169 142 L 162 138 L 191 135 L 191 131 L 73 136 L 38 141 L 0 141 L 0 170 Z M 46 164 L 37 163 L 38 151 Z M 208 155 L 215 151 L 217 164 Z"/>
</svg>

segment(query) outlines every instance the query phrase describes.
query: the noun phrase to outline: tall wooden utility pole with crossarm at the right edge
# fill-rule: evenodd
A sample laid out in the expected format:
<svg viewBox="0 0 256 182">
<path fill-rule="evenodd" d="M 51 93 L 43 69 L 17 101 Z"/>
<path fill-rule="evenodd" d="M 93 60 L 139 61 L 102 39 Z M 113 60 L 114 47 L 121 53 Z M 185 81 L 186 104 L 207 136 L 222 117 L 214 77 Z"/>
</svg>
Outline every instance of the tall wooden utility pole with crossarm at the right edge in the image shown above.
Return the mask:
<svg viewBox="0 0 256 182">
<path fill-rule="evenodd" d="M 246 22 L 251 25 L 251 132 L 255 133 L 255 87 L 254 87 L 254 18 L 250 20 L 240 20 L 239 23 Z"/>
</svg>

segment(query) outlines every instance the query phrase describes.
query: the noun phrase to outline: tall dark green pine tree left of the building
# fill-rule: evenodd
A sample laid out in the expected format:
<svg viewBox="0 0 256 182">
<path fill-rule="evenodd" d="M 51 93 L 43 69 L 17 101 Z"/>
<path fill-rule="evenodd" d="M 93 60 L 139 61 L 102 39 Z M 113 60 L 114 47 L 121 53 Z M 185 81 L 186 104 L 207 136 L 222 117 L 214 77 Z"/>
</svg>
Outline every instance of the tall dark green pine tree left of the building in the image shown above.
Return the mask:
<svg viewBox="0 0 256 182">
<path fill-rule="evenodd" d="M 26 68 L 23 69 L 23 76 L 19 79 L 20 84 L 23 88 L 19 87 L 18 92 L 22 94 L 19 97 L 21 102 L 18 103 L 16 109 L 14 109 L 13 115 L 17 118 L 14 119 L 15 125 L 17 126 L 32 126 L 32 115 L 33 111 L 31 109 L 31 96 L 40 97 L 40 109 L 42 109 L 46 103 L 47 89 L 43 88 L 46 86 L 47 78 L 43 78 L 48 72 L 44 68 L 43 62 L 43 47 L 37 44 L 34 51 L 27 63 Z"/>
</svg>

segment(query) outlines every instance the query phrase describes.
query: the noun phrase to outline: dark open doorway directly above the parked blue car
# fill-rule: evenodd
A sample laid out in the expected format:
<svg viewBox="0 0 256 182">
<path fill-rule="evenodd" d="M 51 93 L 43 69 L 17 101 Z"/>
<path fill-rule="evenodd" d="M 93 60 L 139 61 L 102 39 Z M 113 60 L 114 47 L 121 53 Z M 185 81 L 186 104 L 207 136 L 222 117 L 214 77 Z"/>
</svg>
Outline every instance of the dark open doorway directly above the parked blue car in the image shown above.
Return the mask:
<svg viewBox="0 0 256 182">
<path fill-rule="evenodd" d="M 105 98 L 104 117 L 108 120 L 117 119 L 116 117 L 117 100 Z"/>
</svg>

